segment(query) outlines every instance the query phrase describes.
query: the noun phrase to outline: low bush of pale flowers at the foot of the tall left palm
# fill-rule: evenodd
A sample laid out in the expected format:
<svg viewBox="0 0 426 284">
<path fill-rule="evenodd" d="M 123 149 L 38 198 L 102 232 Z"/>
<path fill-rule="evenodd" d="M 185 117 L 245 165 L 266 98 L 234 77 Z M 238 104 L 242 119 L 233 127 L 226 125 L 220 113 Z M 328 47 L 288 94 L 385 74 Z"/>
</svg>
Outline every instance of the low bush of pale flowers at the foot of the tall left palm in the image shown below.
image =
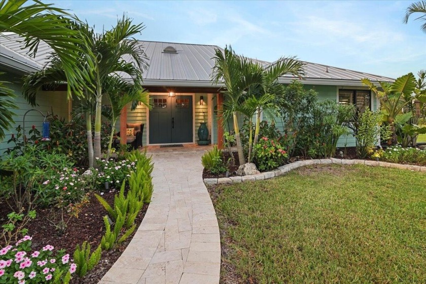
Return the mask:
<svg viewBox="0 0 426 284">
<path fill-rule="evenodd" d="M 97 183 L 100 186 L 103 186 L 105 182 L 109 182 L 119 187 L 125 179 L 130 177 L 130 173 L 135 170 L 135 162 L 127 159 L 97 159 L 96 163 L 99 165 Z"/>
</svg>

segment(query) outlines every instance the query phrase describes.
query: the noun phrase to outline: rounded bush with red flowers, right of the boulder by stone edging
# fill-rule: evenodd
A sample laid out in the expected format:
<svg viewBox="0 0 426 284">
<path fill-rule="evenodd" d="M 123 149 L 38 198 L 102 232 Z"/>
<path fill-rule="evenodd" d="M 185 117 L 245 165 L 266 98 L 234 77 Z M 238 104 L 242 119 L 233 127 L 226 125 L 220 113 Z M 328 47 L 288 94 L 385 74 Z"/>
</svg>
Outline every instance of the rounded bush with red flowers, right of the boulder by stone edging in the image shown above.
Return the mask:
<svg viewBox="0 0 426 284">
<path fill-rule="evenodd" d="M 253 157 L 258 169 L 267 171 L 285 164 L 289 156 L 278 141 L 262 137 L 255 145 Z"/>
</svg>

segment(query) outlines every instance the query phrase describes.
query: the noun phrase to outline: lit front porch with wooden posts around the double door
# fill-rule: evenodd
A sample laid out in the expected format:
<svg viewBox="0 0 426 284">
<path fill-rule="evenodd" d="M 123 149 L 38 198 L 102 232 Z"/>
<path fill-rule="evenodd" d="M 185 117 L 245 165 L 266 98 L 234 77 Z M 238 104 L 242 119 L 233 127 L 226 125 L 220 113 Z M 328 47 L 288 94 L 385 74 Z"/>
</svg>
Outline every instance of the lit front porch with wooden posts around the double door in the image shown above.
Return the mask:
<svg viewBox="0 0 426 284">
<path fill-rule="evenodd" d="M 153 109 L 144 104 L 131 110 L 127 105 L 121 112 L 117 131 L 126 133 L 127 124 L 145 125 L 144 146 L 168 144 L 197 145 L 198 129 L 206 123 L 209 144 L 223 147 L 220 111 L 223 95 L 217 88 L 193 87 L 147 87 L 150 91 Z M 219 138 L 220 137 L 220 138 Z M 125 139 L 121 143 L 125 143 Z M 165 150 L 165 148 L 162 148 Z"/>
</svg>

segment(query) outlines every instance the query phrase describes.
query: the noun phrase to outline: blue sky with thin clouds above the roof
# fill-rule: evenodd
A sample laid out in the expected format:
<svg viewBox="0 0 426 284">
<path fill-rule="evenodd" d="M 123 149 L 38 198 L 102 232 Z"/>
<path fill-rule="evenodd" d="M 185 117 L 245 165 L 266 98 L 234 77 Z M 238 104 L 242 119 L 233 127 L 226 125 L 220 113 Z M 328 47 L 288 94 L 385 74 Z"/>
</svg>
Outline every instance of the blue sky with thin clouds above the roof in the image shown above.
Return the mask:
<svg viewBox="0 0 426 284">
<path fill-rule="evenodd" d="M 413 1 L 56 1 L 97 31 L 127 13 L 146 29 L 137 39 L 218 45 L 266 61 L 297 56 L 388 77 L 426 68 L 426 33 Z M 50 3 L 50 2 L 49 2 Z"/>
</svg>

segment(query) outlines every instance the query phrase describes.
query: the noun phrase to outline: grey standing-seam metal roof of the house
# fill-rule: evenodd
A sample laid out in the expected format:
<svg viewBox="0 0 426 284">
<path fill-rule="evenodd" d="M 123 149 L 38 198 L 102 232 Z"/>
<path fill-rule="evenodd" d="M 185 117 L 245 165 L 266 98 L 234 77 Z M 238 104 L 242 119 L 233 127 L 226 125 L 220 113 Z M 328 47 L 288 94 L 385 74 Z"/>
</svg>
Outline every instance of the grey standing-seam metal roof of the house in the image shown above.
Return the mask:
<svg viewBox="0 0 426 284">
<path fill-rule="evenodd" d="M 26 61 L 39 69 L 48 63 L 48 56 L 52 49 L 46 43 L 41 42 L 35 57 L 29 57 L 28 49 L 21 48 L 21 41 L 22 38 L 17 34 L 0 33 L 0 55 L 10 55 L 13 52 L 13 58 L 17 61 Z M 139 45 L 149 58 L 149 66 L 143 69 L 144 85 L 211 86 L 212 68 L 215 65 L 213 57 L 215 49 L 220 47 L 151 41 L 139 41 Z M 170 47 L 174 48 L 176 52 L 170 52 Z M 124 57 L 124 59 L 131 60 L 130 57 Z M 271 62 L 258 59 L 252 60 L 264 66 L 271 64 Z M 392 78 L 344 68 L 311 62 L 304 63 L 305 76 L 302 80 L 304 83 L 361 85 L 362 78 L 368 78 L 373 82 L 394 81 Z M 294 76 L 288 75 L 280 78 L 280 81 L 287 83 L 293 79 L 295 79 Z"/>
</svg>

